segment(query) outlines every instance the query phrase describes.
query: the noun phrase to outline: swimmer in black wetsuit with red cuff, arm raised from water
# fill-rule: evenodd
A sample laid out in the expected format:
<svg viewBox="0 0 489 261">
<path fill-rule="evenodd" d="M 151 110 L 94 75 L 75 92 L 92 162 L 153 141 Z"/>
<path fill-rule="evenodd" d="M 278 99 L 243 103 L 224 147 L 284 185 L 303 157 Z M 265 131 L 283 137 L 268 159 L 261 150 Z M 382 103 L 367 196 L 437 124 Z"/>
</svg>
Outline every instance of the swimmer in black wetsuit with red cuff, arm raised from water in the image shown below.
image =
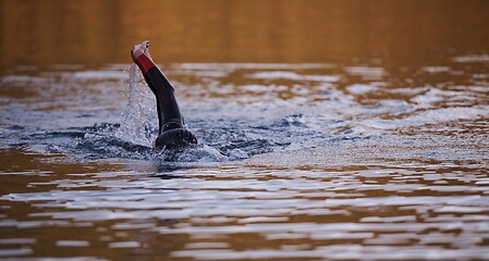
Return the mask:
<svg viewBox="0 0 489 261">
<path fill-rule="evenodd" d="M 159 132 L 154 148 L 176 149 L 197 144 L 195 135 L 185 128 L 183 116 L 173 95 L 174 89 L 163 73 L 148 57 L 149 41 L 134 46 L 131 51 L 133 61 L 142 71 L 146 83 L 156 97 Z"/>
</svg>

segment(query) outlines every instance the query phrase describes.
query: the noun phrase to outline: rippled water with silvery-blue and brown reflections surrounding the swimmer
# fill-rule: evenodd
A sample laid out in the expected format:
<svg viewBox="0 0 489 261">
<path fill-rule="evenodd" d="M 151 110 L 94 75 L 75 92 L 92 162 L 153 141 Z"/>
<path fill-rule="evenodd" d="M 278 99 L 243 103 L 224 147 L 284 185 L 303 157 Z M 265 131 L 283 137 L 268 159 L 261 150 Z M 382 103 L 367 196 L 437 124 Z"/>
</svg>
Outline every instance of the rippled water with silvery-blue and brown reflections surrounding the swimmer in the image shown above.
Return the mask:
<svg viewBox="0 0 489 261">
<path fill-rule="evenodd" d="M 199 140 L 171 159 L 134 66 L 2 77 L 2 258 L 489 257 L 485 57 L 164 67 Z"/>
</svg>

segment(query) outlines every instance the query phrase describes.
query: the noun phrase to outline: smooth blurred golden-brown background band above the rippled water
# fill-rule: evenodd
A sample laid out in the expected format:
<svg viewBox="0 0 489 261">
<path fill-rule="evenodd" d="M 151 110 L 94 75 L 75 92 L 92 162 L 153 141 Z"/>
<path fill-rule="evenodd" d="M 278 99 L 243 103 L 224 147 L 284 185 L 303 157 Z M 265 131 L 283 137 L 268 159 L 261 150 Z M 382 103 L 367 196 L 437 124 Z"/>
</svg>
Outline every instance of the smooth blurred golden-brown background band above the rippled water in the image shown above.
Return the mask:
<svg viewBox="0 0 489 261">
<path fill-rule="evenodd" d="M 1 4 L 2 66 L 166 62 L 384 62 L 487 52 L 488 1 L 144 0 Z M 453 54 L 453 53 L 452 53 Z"/>
</svg>

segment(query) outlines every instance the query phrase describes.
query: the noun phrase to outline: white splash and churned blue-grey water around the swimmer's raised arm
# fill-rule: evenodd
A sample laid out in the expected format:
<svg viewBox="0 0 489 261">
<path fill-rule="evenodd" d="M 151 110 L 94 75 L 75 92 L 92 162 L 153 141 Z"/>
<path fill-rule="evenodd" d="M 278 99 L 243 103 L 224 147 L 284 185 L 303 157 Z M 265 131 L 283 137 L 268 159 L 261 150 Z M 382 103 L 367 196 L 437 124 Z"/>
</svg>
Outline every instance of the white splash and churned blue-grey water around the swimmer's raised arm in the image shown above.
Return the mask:
<svg viewBox="0 0 489 261">
<path fill-rule="evenodd" d="M 135 64 L 129 74 L 127 105 L 121 124 L 95 126 L 77 139 L 80 152 L 94 158 L 132 158 L 174 162 L 218 162 L 246 159 L 256 153 L 271 151 L 266 139 L 254 139 L 239 126 L 225 123 L 215 129 L 193 129 L 201 145 L 182 151 L 158 151 L 148 145 L 156 138 L 155 98 L 142 83 L 142 74 Z M 90 74 L 91 75 L 91 74 Z M 117 74 L 114 74 L 117 75 Z M 224 129 L 223 129 L 224 128 Z M 51 148 L 51 152 L 54 152 Z M 61 151 L 59 151 L 61 152 Z"/>
</svg>

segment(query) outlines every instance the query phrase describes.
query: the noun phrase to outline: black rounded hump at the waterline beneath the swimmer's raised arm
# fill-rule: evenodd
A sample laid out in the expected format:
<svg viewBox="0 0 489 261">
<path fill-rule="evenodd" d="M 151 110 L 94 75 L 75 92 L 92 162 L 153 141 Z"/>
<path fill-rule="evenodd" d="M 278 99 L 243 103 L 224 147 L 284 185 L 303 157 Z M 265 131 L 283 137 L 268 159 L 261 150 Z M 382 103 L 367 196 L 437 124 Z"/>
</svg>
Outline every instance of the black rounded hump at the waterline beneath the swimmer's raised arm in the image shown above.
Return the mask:
<svg viewBox="0 0 489 261">
<path fill-rule="evenodd" d="M 186 128 L 172 128 L 162 132 L 156 139 L 156 148 L 182 148 L 191 144 L 197 144 L 197 138 Z"/>
</svg>

